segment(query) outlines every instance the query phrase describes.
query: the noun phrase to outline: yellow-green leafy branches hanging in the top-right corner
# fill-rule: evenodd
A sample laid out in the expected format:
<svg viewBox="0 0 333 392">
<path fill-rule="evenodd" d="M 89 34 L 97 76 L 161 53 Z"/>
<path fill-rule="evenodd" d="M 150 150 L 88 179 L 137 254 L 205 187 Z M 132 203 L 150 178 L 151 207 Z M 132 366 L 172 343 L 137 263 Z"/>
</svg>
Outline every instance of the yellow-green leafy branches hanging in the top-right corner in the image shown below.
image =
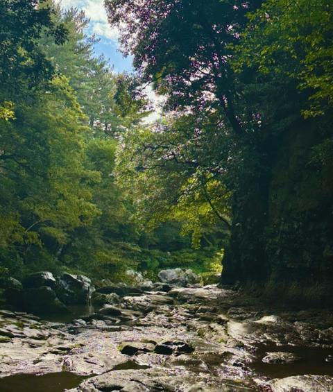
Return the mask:
<svg viewBox="0 0 333 392">
<path fill-rule="evenodd" d="M 305 118 L 323 115 L 333 102 L 332 26 L 330 2 L 268 0 L 249 16 L 237 66 L 296 80 L 309 99 L 302 108 Z"/>
</svg>

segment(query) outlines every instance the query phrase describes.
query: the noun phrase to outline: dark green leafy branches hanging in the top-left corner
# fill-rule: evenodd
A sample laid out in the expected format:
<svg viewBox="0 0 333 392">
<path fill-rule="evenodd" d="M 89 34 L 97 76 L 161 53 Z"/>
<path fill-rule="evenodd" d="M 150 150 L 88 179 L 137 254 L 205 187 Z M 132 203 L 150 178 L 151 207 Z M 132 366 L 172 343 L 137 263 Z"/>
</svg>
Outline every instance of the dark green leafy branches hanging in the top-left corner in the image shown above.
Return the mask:
<svg viewBox="0 0 333 392">
<path fill-rule="evenodd" d="M 2 0 L 0 3 L 0 102 L 31 95 L 53 74 L 38 42 L 42 32 L 50 40 L 65 42 L 67 33 L 52 21 L 52 10 L 38 1 Z M 23 93 L 23 94 L 22 94 Z"/>
</svg>

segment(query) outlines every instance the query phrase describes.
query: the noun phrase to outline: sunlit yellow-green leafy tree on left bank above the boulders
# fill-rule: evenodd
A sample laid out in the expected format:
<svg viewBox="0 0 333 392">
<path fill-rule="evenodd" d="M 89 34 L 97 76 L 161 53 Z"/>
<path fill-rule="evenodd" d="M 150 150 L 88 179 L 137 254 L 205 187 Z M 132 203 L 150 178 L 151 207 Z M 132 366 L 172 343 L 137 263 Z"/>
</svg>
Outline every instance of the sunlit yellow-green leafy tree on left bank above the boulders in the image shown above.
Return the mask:
<svg viewBox="0 0 333 392">
<path fill-rule="evenodd" d="M 83 167 L 85 117 L 67 80 L 55 78 L 35 105 L 18 104 L 15 119 L 1 123 L 1 243 L 23 259 L 31 248 L 64 243 L 97 213 L 89 184 L 99 173 Z"/>
</svg>

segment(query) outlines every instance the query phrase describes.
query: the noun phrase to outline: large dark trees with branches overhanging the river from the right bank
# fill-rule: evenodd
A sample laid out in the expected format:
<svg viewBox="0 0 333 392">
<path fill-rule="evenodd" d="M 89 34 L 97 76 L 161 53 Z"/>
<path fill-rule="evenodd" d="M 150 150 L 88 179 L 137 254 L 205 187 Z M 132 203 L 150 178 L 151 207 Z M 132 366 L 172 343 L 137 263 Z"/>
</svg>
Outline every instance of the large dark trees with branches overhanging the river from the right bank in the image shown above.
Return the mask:
<svg viewBox="0 0 333 392">
<path fill-rule="evenodd" d="M 195 246 L 207 228 L 221 239 L 221 225 L 231 227 L 223 262 L 228 283 L 263 281 L 278 260 L 275 246 L 285 249 L 284 259 L 298 255 L 304 265 L 309 255 L 317 259 L 315 249 L 326 259 L 332 237 L 332 3 L 105 4 L 139 77 L 167 98 L 164 119 L 153 129 L 128 132 L 119 153 L 119 182 L 137 203 L 139 222 L 153 228 L 167 219 L 182 221 Z M 311 210 L 316 196 L 327 225 L 320 246 L 318 219 L 298 241 L 302 223 L 309 223 L 305 216 L 320 215 Z M 284 224 L 298 246 L 279 237 Z M 305 242 L 307 255 L 299 249 Z"/>
</svg>

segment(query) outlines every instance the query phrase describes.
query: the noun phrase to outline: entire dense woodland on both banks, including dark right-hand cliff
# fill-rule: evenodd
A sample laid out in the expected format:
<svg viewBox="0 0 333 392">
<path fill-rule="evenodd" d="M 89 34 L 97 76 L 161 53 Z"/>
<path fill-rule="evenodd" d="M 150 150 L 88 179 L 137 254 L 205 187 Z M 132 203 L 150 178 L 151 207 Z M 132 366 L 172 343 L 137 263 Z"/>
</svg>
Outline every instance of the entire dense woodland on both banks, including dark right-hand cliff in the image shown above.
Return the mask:
<svg viewBox="0 0 333 392">
<path fill-rule="evenodd" d="M 1 275 L 222 263 L 226 284 L 330 298 L 332 1 L 105 7 L 133 74 L 94 56 L 83 12 L 0 1 Z"/>
</svg>

